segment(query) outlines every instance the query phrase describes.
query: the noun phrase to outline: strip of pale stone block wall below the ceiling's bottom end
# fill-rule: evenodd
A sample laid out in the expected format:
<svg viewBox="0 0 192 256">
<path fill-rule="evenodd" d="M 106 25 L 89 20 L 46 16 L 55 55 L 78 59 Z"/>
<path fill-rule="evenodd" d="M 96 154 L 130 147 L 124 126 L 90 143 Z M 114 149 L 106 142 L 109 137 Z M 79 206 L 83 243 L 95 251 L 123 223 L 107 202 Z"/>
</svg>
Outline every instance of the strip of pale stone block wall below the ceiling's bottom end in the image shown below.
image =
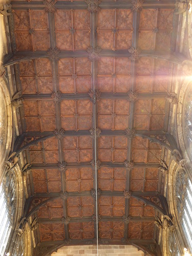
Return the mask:
<svg viewBox="0 0 192 256">
<path fill-rule="evenodd" d="M 99 245 L 98 256 L 144 256 L 141 250 L 133 245 Z M 97 246 L 63 246 L 53 252 L 52 256 L 97 256 Z"/>
</svg>

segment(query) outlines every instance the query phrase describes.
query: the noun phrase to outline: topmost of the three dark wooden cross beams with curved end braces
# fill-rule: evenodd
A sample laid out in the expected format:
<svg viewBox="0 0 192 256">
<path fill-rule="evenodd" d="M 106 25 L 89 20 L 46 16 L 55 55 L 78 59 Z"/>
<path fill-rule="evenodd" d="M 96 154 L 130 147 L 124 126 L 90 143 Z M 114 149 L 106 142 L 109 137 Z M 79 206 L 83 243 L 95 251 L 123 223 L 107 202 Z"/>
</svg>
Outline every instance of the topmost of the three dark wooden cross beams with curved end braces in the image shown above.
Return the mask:
<svg viewBox="0 0 192 256">
<path fill-rule="evenodd" d="M 60 51 L 58 53 L 58 58 L 82 58 L 88 57 L 88 52 L 86 50 L 77 51 Z M 131 57 L 131 53 L 127 50 L 102 50 L 99 53 L 100 57 Z M 140 57 L 151 57 L 165 59 L 170 62 L 181 64 L 184 60 L 187 60 L 186 56 L 182 53 L 172 52 L 166 53 L 165 51 L 141 51 L 139 52 Z M 36 59 L 36 58 L 48 58 L 48 51 L 22 51 L 15 52 L 12 55 L 5 55 L 4 57 L 4 67 L 14 65 L 21 61 Z"/>
</svg>

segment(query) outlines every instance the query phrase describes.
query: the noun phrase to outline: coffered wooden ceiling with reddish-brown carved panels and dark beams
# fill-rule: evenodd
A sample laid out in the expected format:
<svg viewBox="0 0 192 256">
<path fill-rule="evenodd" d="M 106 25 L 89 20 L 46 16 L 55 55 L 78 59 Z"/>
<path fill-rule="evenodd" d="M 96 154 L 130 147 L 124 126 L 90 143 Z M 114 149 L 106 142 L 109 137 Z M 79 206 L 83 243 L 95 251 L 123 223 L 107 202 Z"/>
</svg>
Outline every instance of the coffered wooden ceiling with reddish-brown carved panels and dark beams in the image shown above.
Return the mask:
<svg viewBox="0 0 192 256">
<path fill-rule="evenodd" d="M 165 142 L 168 129 L 175 1 L 11 4 L 5 64 L 24 99 L 15 150 L 32 164 L 35 255 L 95 244 L 96 190 L 99 243 L 155 245 L 164 147 L 150 138 Z"/>
</svg>

